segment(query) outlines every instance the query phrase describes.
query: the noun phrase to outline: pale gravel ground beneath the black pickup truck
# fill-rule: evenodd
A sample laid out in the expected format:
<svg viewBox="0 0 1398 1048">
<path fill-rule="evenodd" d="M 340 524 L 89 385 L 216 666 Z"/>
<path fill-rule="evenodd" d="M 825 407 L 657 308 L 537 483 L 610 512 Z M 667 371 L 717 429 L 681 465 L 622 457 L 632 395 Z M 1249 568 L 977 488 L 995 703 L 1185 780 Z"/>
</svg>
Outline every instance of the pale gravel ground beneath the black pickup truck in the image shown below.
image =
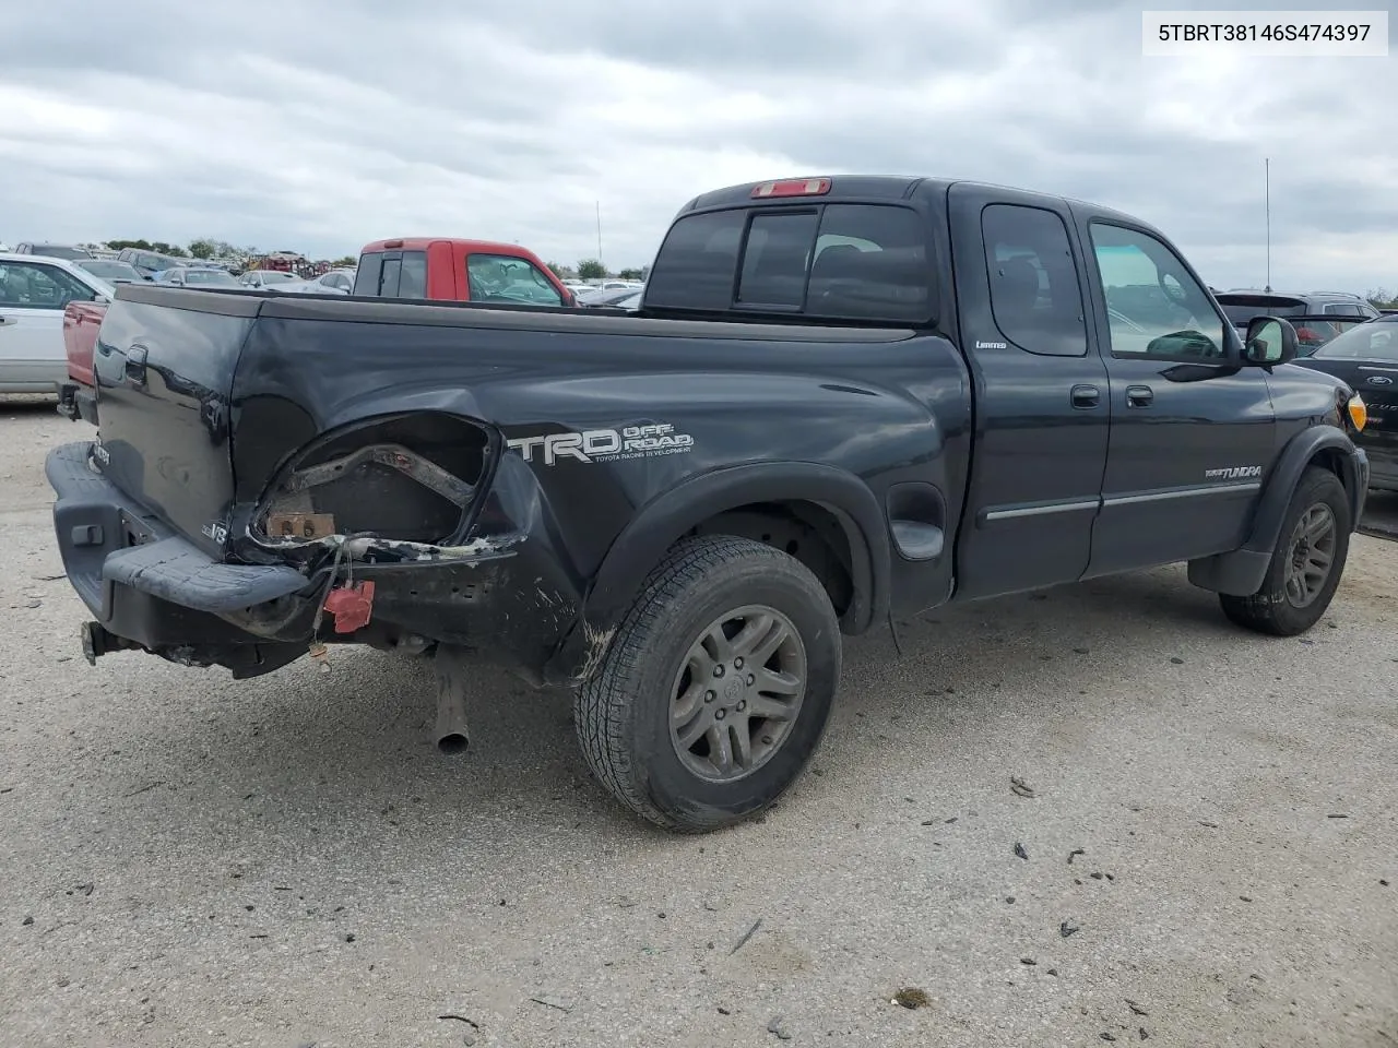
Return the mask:
<svg viewBox="0 0 1398 1048">
<path fill-rule="evenodd" d="M 1302 640 L 1167 569 L 851 641 L 815 773 L 677 838 L 502 676 L 450 760 L 389 655 L 88 667 L 85 430 L 0 402 L 4 1045 L 1398 1045 L 1392 544 Z"/>
</svg>

